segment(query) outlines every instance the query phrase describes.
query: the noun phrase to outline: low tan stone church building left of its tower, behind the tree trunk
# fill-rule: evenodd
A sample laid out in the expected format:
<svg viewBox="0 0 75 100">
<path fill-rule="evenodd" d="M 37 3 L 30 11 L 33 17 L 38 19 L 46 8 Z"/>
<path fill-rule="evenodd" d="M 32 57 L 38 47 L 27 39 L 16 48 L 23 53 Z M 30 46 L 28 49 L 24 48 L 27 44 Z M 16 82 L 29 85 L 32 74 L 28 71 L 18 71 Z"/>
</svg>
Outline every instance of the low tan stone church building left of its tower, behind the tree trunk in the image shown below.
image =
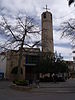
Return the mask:
<svg viewBox="0 0 75 100">
<path fill-rule="evenodd" d="M 25 48 L 23 50 L 23 57 L 22 57 L 22 74 L 20 75 L 20 79 L 32 79 L 34 78 L 33 68 L 37 66 L 39 61 L 39 48 Z M 6 67 L 6 78 L 7 79 L 16 79 L 17 75 L 12 74 L 13 68 L 17 67 L 18 65 L 18 58 L 19 58 L 19 51 L 18 50 L 11 50 L 7 52 L 7 67 Z"/>
</svg>

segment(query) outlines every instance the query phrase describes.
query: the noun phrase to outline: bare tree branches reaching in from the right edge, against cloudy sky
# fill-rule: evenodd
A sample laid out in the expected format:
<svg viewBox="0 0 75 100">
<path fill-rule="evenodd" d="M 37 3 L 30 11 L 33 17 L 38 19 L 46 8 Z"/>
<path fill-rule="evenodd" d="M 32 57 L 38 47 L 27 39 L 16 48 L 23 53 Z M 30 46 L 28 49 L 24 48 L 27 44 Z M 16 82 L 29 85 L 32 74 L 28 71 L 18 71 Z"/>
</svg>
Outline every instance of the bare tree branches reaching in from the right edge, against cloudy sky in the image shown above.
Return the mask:
<svg viewBox="0 0 75 100">
<path fill-rule="evenodd" d="M 75 19 L 63 22 L 60 30 L 62 31 L 61 37 L 68 37 L 71 39 L 72 43 L 75 43 Z"/>
</svg>

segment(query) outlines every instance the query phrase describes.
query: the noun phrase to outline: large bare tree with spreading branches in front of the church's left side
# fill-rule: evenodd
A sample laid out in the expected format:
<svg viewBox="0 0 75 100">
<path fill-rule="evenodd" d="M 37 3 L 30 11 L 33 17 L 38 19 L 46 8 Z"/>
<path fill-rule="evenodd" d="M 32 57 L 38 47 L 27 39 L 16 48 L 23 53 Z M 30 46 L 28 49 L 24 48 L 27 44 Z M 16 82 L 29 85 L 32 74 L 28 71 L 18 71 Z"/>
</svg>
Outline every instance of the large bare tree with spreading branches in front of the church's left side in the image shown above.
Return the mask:
<svg viewBox="0 0 75 100">
<path fill-rule="evenodd" d="M 39 27 L 34 19 L 27 16 L 18 16 L 12 20 L 6 16 L 0 16 L 0 19 L 0 35 L 2 36 L 0 47 L 2 50 L 6 51 L 11 49 L 19 49 L 19 77 L 23 48 L 25 46 L 33 48 L 40 42 L 40 40 L 33 42 L 31 40 L 31 37 L 36 37 L 37 34 L 40 33 Z M 3 39 L 5 39 L 5 42 Z"/>
</svg>

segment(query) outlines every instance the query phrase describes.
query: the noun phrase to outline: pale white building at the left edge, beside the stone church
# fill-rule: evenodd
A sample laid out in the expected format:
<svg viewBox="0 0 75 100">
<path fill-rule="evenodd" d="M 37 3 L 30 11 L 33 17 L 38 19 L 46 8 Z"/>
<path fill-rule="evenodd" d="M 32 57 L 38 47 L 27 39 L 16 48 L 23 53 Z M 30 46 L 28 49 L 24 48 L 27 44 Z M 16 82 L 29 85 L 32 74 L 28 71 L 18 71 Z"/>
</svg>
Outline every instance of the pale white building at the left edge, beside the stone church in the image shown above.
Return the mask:
<svg viewBox="0 0 75 100">
<path fill-rule="evenodd" d="M 6 53 L 0 53 L 0 76 L 3 74 L 3 77 L 6 78 Z"/>
</svg>

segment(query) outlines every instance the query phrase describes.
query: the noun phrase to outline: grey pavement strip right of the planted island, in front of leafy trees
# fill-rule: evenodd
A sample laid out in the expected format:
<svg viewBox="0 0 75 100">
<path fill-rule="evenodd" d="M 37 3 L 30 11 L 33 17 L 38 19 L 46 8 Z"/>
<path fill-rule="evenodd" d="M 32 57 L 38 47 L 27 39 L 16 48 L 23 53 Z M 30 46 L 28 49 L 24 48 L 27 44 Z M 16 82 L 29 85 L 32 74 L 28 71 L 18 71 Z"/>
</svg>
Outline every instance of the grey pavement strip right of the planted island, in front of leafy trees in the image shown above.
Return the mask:
<svg viewBox="0 0 75 100">
<path fill-rule="evenodd" d="M 75 93 L 75 79 L 66 82 L 40 83 L 39 88 L 33 88 L 32 93 Z"/>
</svg>

